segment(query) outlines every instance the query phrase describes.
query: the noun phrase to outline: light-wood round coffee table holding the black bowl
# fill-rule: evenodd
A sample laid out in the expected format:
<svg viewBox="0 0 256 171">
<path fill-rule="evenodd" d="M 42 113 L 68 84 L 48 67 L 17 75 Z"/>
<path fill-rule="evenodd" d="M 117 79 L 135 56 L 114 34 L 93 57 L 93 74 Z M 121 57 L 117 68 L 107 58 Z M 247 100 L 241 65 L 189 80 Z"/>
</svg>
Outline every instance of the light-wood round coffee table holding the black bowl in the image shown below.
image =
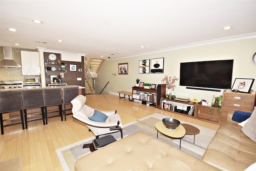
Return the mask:
<svg viewBox="0 0 256 171">
<path fill-rule="evenodd" d="M 171 137 L 171 138 L 177 138 L 180 139 L 180 145 L 181 145 L 181 139 L 184 137 L 186 130 L 185 128 L 180 124 L 176 129 L 168 129 L 166 126 L 164 126 L 162 121 L 159 121 L 155 125 L 157 129 L 157 138 L 158 138 L 158 131 L 160 131 L 162 134 Z"/>
</svg>

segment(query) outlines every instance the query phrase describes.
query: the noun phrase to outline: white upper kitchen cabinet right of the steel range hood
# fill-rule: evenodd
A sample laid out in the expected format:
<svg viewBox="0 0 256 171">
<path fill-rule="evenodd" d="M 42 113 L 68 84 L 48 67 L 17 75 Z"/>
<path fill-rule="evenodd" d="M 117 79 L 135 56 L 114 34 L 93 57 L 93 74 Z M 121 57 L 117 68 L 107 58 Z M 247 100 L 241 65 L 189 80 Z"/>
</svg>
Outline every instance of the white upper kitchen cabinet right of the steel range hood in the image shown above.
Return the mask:
<svg viewBox="0 0 256 171">
<path fill-rule="evenodd" d="M 22 75 L 40 75 L 38 52 L 20 51 Z"/>
</svg>

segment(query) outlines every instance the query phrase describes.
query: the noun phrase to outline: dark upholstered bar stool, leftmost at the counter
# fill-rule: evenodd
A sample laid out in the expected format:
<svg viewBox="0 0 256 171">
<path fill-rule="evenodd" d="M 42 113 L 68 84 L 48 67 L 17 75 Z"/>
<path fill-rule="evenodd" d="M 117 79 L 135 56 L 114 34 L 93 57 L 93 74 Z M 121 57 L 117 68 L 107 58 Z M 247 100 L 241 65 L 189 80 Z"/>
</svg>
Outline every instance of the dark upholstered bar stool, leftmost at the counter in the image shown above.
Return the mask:
<svg viewBox="0 0 256 171">
<path fill-rule="evenodd" d="M 0 123 L 1 123 L 2 135 L 4 134 L 4 127 L 6 127 L 6 126 L 16 125 L 18 123 L 21 123 L 22 129 L 25 129 L 21 101 L 22 101 L 22 98 L 21 98 L 21 89 L 20 88 L 0 89 Z M 8 113 L 11 111 L 20 111 L 20 117 L 3 120 L 3 113 Z M 14 119 L 19 119 L 19 118 L 21 119 L 21 122 L 3 125 L 3 121 L 12 121 Z"/>
</svg>

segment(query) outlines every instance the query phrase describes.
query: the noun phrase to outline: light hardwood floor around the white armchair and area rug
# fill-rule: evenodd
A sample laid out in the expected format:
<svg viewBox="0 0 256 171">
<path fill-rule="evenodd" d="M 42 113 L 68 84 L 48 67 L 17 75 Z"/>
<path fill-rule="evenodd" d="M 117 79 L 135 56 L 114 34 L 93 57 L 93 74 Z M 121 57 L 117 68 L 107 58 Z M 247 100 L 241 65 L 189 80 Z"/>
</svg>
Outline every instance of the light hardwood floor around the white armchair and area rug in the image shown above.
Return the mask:
<svg viewBox="0 0 256 171">
<path fill-rule="evenodd" d="M 86 105 L 98 110 L 117 110 L 126 124 L 153 113 L 160 113 L 183 121 L 217 130 L 219 125 L 200 121 L 155 107 L 134 103 L 127 98 L 120 99 L 117 95 L 87 95 Z M 4 135 L 0 135 L 0 161 L 22 155 L 22 170 L 62 170 L 56 149 L 70 145 L 82 139 L 94 136 L 84 123 L 67 115 L 67 121 L 60 117 L 48 119 L 48 125 L 42 121 L 28 123 L 28 129 L 22 129 L 21 124 L 4 127 Z"/>
</svg>

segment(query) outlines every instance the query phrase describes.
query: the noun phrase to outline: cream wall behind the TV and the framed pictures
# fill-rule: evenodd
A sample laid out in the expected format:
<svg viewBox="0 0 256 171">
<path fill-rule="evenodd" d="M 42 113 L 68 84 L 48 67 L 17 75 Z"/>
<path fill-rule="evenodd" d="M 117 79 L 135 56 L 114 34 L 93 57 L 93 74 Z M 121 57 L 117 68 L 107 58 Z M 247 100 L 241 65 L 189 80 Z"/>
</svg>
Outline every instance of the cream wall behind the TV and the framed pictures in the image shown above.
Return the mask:
<svg viewBox="0 0 256 171">
<path fill-rule="evenodd" d="M 256 65 L 252 63 L 252 55 L 255 52 L 256 39 L 248 39 L 105 61 L 98 72 L 98 78 L 96 78 L 96 94 L 100 93 L 108 81 L 109 84 L 102 93 L 132 91 L 132 86 L 136 84 L 137 78 L 140 78 L 141 82 L 151 84 L 162 84 L 160 80 L 165 75 L 179 78 L 181 62 L 234 59 L 232 84 L 235 78 L 256 79 Z M 139 60 L 154 58 L 164 58 L 164 74 L 139 74 Z M 126 62 L 128 62 L 128 75 L 118 75 L 118 64 Z M 116 74 L 116 76 L 114 77 L 112 74 Z M 191 99 L 197 98 L 198 100 L 205 99 L 208 102 L 211 101 L 213 95 L 222 95 L 223 91 L 223 89 L 221 92 L 186 89 L 186 86 L 179 84 L 178 80 L 174 95 Z M 256 91 L 256 81 L 252 89 Z"/>
</svg>

